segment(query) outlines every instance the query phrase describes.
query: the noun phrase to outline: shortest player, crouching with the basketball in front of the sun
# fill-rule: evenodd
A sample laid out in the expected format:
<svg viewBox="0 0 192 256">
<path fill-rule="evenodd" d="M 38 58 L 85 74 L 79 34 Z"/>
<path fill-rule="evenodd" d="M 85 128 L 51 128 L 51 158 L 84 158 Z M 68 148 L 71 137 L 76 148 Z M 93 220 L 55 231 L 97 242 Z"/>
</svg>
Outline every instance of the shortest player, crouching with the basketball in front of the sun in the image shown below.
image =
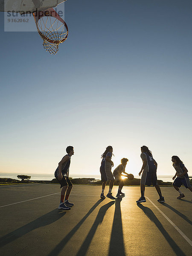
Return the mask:
<svg viewBox="0 0 192 256">
<path fill-rule="evenodd" d="M 122 196 L 125 196 L 125 193 L 121 192 L 122 187 L 124 185 L 124 180 L 122 179 L 122 175 L 127 177 L 128 173 L 125 172 L 125 167 L 127 165 L 128 159 L 127 158 L 122 158 L 121 164 L 116 167 L 113 171 L 113 176 L 115 177 L 116 181 L 119 182 L 119 188 L 118 192 L 116 194 L 117 198 L 122 198 Z M 122 174 L 123 173 L 123 174 Z M 125 175 L 124 175 L 125 174 Z"/>
</svg>

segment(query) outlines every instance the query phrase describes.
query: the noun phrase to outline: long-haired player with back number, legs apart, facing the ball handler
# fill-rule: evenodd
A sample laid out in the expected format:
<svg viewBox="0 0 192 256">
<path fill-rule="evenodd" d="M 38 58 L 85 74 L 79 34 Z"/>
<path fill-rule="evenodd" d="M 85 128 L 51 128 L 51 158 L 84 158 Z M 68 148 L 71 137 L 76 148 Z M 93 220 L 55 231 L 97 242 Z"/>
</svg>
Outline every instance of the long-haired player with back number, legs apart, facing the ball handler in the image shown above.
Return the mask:
<svg viewBox="0 0 192 256">
<path fill-rule="evenodd" d="M 151 151 L 148 149 L 148 147 L 146 146 L 141 147 L 141 152 L 142 152 L 141 159 L 143 160 L 143 166 L 139 173 L 139 176 L 142 174 L 141 181 L 140 181 L 141 197 L 136 201 L 136 203 L 146 202 L 146 199 L 144 196 L 145 185 L 151 186 L 151 183 L 153 183 L 153 186 L 155 186 L 155 189 L 159 194 L 160 198 L 157 199 L 157 201 L 165 202 L 164 197 L 161 194 L 160 186 L 157 183 L 157 163 L 153 159 L 153 155 Z"/>
</svg>

